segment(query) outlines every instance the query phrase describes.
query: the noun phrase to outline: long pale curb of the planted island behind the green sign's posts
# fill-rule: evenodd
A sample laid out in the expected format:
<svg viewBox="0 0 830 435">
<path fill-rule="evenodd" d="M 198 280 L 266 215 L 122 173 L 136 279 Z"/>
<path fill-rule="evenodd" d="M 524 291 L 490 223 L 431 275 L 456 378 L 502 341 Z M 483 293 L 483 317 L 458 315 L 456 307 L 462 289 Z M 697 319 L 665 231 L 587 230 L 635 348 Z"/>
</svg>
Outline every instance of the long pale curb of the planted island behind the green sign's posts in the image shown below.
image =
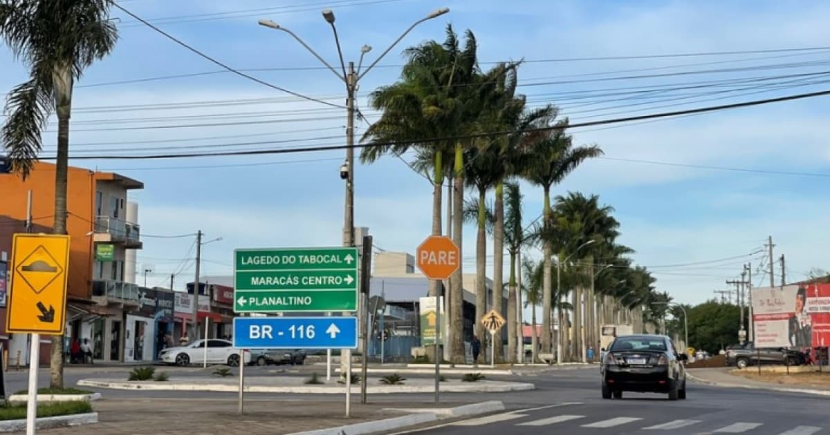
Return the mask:
<svg viewBox="0 0 830 435">
<path fill-rule="evenodd" d="M 78 385 L 106 389 L 143 389 L 147 391 L 213 391 L 237 392 L 239 387 L 233 384 L 178 384 L 175 382 L 153 381 L 111 381 L 81 379 Z M 520 382 L 498 382 L 480 380 L 464 384 L 441 385 L 445 393 L 503 393 L 508 391 L 528 391 L 535 389 L 534 384 Z M 335 388 L 322 385 L 246 385 L 247 393 L 286 393 L 286 394 L 342 394 L 345 387 Z M 369 385 L 369 394 L 432 393 L 433 385 Z M 359 394 L 360 385 L 352 386 L 352 393 Z"/>
</svg>

